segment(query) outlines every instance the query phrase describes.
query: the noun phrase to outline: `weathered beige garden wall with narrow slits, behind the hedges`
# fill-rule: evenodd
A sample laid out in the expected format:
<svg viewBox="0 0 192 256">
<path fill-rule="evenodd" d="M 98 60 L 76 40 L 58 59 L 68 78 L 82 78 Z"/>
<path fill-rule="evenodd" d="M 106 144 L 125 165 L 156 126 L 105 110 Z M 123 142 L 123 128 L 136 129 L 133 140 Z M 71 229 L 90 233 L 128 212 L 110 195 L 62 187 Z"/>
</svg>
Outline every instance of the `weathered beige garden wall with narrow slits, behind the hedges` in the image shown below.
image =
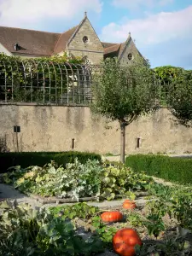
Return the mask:
<svg viewBox="0 0 192 256">
<path fill-rule="evenodd" d="M 119 154 L 119 124 L 96 118 L 90 108 L 0 105 L 0 124 L 10 151 Z M 20 132 L 14 132 L 15 125 Z M 192 129 L 176 125 L 167 109 L 134 121 L 125 139 L 127 154 L 192 152 Z"/>
</svg>

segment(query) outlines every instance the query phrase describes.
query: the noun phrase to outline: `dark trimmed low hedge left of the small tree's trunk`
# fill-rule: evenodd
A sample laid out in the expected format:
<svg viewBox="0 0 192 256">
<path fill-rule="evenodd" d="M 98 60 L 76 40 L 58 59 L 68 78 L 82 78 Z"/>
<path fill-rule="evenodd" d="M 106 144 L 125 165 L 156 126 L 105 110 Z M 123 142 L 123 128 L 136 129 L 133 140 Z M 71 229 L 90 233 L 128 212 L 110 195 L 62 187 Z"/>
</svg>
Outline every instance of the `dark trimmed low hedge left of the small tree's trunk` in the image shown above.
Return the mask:
<svg viewBox="0 0 192 256">
<path fill-rule="evenodd" d="M 66 166 L 73 163 L 75 158 L 84 164 L 88 159 L 102 160 L 100 154 L 84 152 L 22 152 L 22 153 L 1 153 L 0 154 L 0 173 L 6 172 L 10 166 L 44 166 L 51 160 L 55 160 L 59 165 Z"/>
</svg>

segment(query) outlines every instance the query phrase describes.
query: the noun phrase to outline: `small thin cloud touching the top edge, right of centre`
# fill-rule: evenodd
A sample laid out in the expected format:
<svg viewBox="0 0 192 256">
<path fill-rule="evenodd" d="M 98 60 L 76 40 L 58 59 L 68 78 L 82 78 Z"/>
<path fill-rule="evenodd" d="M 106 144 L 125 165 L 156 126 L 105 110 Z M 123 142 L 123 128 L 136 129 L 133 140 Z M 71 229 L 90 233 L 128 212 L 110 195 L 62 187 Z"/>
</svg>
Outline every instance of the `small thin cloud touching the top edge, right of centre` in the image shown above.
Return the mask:
<svg viewBox="0 0 192 256">
<path fill-rule="evenodd" d="M 113 6 L 118 8 L 137 9 L 137 8 L 154 8 L 155 6 L 165 6 L 173 3 L 174 0 L 113 0 Z"/>
</svg>

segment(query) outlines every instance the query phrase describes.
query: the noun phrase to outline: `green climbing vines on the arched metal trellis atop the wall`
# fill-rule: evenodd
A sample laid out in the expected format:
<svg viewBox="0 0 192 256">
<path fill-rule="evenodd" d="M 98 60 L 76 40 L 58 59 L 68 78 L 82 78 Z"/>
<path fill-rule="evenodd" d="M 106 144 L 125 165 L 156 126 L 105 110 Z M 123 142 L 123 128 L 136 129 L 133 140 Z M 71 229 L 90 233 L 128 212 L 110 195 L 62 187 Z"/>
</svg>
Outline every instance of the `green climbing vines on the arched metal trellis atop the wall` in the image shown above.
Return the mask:
<svg viewBox="0 0 192 256">
<path fill-rule="evenodd" d="M 70 82 L 67 74 L 62 73 L 61 76 L 58 65 L 65 62 L 82 64 L 84 60 L 82 57 L 73 57 L 67 53 L 35 60 L 0 53 L 0 99 L 7 102 L 60 102 L 58 99 L 61 100 L 61 96 L 67 90 L 68 80 Z M 73 69 L 77 67 L 73 66 Z M 68 69 L 69 75 L 73 73 L 72 70 Z"/>
</svg>

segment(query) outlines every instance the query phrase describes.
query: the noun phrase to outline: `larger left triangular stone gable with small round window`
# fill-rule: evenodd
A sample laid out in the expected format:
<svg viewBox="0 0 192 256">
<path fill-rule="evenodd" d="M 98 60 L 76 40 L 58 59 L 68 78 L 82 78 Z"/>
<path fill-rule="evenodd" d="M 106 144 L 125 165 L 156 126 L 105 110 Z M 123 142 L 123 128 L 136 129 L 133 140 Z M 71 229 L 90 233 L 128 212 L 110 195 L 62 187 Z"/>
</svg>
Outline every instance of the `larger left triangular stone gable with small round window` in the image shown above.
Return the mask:
<svg viewBox="0 0 192 256">
<path fill-rule="evenodd" d="M 83 38 L 87 37 L 87 42 L 84 43 Z M 100 39 L 97 37 L 95 30 L 90 24 L 90 20 L 85 16 L 79 28 L 73 34 L 73 38 L 67 44 L 67 49 L 94 51 L 103 54 L 103 46 Z"/>
</svg>

